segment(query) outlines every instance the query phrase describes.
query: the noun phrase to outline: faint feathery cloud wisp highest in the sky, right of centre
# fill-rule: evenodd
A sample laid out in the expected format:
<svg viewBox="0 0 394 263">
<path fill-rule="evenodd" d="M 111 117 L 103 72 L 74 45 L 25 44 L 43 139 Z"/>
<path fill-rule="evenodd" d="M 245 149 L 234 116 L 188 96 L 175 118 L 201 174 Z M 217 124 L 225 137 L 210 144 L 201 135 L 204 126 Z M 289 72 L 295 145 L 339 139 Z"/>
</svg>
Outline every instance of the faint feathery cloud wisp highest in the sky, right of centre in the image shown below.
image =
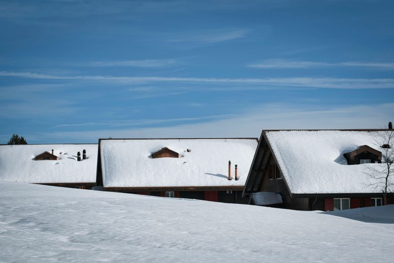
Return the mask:
<svg viewBox="0 0 394 263">
<path fill-rule="evenodd" d="M 178 38 L 168 39 L 168 41 L 213 44 L 237 38 L 245 38 L 250 32 L 251 30 L 248 29 L 199 31 L 193 34 L 180 35 Z"/>
</svg>

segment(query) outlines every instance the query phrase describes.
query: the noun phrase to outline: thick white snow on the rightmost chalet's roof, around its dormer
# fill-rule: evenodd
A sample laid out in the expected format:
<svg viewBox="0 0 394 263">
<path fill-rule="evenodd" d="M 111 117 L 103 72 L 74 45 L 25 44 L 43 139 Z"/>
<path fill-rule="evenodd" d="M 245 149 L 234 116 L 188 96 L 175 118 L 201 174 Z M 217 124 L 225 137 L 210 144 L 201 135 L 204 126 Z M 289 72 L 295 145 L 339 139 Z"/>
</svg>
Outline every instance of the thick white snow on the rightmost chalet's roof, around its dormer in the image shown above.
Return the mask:
<svg viewBox="0 0 394 263">
<path fill-rule="evenodd" d="M 368 165 L 347 165 L 345 152 L 375 146 L 377 132 L 362 131 L 267 131 L 283 176 L 292 193 L 382 192 L 368 187 L 376 183 L 365 172 Z"/>
</svg>

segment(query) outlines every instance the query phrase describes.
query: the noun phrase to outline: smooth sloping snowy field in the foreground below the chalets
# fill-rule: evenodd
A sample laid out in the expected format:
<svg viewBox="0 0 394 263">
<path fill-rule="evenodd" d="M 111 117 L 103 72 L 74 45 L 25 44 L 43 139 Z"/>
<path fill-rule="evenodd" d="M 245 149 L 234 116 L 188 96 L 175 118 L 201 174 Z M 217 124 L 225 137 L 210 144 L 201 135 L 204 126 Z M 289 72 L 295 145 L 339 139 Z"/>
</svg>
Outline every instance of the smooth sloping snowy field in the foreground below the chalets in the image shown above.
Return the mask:
<svg viewBox="0 0 394 263">
<path fill-rule="evenodd" d="M 394 205 L 301 212 L 0 182 L 0 262 L 392 262 Z"/>
</svg>

